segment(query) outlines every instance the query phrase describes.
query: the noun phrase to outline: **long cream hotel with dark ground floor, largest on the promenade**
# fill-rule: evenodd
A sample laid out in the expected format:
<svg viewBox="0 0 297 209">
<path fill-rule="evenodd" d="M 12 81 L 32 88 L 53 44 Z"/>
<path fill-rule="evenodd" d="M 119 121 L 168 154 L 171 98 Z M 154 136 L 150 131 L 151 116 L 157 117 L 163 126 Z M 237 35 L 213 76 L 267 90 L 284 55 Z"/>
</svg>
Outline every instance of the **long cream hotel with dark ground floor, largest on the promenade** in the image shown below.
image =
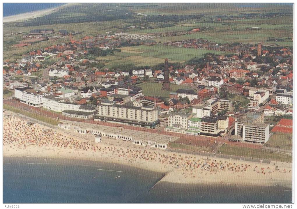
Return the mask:
<svg viewBox="0 0 297 209">
<path fill-rule="evenodd" d="M 113 101 L 102 101 L 94 120 L 108 121 L 132 126 L 155 128 L 159 124 L 158 110 L 154 106 L 134 107 L 116 105 Z"/>
</svg>

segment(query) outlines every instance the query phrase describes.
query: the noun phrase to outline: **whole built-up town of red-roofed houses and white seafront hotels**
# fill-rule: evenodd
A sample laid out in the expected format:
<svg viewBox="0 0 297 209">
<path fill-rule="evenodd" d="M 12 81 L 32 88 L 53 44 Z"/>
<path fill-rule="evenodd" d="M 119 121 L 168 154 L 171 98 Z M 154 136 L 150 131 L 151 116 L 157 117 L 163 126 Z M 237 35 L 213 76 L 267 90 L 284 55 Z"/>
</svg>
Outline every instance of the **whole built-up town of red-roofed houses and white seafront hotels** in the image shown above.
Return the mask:
<svg viewBox="0 0 297 209">
<path fill-rule="evenodd" d="M 263 117 L 293 115 L 290 47 L 280 51 L 262 45 L 255 53 L 255 45 L 176 39 L 160 45 L 222 54 L 208 53 L 198 61 L 178 64 L 166 59 L 165 64 L 151 66 L 110 66 L 92 53 L 108 58 L 120 53 L 119 46 L 127 40 L 131 45 L 152 46 L 157 44 L 154 37 L 176 34 L 110 32 L 75 39 L 66 32 L 59 35 L 68 35 L 70 41 L 3 62 L 3 88 L 14 91 L 13 99 L 70 118 L 149 129 L 164 126 L 165 132 L 194 136 L 233 135 L 240 142 L 261 144 L 267 142 L 270 127 Z M 186 31 L 191 33 L 200 33 L 200 29 Z"/>
</svg>

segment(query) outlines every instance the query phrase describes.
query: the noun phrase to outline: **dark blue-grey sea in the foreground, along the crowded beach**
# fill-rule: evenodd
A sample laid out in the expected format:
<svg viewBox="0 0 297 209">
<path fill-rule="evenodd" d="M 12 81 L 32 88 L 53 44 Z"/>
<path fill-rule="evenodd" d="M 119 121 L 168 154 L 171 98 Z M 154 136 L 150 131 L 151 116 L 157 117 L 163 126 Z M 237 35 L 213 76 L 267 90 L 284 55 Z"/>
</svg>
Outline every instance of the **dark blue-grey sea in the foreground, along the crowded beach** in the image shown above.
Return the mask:
<svg viewBox="0 0 297 209">
<path fill-rule="evenodd" d="M 99 170 L 98 170 L 99 169 Z M 120 176 L 120 177 L 119 177 Z M 278 186 L 184 185 L 163 174 L 101 162 L 4 158 L 4 203 L 289 203 Z"/>
</svg>

